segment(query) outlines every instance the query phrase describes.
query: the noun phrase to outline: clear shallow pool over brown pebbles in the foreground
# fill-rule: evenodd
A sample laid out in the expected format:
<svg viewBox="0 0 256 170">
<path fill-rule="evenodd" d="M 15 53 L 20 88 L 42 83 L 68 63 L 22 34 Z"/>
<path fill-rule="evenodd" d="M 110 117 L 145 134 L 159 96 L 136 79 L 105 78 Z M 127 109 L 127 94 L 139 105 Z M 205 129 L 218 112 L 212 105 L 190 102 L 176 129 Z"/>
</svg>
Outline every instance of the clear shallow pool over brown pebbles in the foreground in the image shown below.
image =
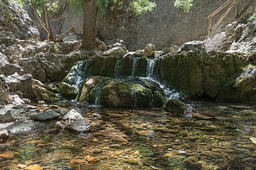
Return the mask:
<svg viewBox="0 0 256 170">
<path fill-rule="evenodd" d="M 191 112 L 188 120 L 158 109 L 90 110 L 87 135 L 46 122 L 0 144 L 0 169 L 256 169 L 255 103 L 197 101 Z"/>
</svg>

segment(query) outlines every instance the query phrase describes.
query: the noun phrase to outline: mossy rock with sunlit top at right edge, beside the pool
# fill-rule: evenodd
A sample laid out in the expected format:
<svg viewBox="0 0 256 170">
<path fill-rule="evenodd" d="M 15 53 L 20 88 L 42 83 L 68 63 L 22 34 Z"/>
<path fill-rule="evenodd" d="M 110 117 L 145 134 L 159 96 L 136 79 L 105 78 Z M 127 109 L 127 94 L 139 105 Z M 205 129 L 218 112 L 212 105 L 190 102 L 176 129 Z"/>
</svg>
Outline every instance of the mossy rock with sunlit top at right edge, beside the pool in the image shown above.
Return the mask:
<svg viewBox="0 0 256 170">
<path fill-rule="evenodd" d="M 249 64 L 243 72 L 230 77 L 217 98 L 225 101 L 256 101 L 256 67 Z"/>
</svg>

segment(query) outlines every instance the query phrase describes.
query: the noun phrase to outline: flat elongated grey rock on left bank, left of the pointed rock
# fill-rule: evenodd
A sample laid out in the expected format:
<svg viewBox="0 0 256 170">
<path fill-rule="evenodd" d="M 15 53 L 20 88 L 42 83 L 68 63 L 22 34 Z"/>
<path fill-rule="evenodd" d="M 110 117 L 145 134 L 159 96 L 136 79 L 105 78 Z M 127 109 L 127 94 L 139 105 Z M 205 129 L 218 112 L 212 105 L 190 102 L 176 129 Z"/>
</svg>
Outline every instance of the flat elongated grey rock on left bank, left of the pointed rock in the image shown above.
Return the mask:
<svg viewBox="0 0 256 170">
<path fill-rule="evenodd" d="M 30 118 L 31 120 L 38 120 L 38 121 L 45 121 L 45 120 L 52 120 L 56 119 L 60 116 L 59 113 L 49 110 L 46 112 L 41 112 L 41 113 L 31 113 Z"/>
</svg>

